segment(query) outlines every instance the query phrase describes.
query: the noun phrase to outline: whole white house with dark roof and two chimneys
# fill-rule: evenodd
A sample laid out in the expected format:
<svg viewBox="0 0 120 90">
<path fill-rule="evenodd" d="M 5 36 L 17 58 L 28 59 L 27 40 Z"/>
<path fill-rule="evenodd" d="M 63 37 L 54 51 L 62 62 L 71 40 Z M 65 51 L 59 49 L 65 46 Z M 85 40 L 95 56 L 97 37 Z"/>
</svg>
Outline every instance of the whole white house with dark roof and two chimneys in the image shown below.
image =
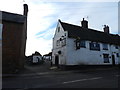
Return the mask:
<svg viewBox="0 0 120 90">
<path fill-rule="evenodd" d="M 58 20 L 53 37 L 52 63 L 56 66 L 118 65 L 120 36 L 110 34 L 107 25 L 103 30 L 90 29 L 84 18 L 81 26 Z"/>
</svg>

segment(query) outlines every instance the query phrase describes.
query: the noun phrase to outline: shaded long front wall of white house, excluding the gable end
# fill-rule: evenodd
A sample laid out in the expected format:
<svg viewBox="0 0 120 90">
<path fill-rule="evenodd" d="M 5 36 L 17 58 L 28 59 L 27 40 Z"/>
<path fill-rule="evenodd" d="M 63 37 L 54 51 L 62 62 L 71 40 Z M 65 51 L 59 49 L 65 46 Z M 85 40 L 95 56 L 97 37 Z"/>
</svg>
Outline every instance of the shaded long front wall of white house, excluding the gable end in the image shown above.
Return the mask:
<svg viewBox="0 0 120 90">
<path fill-rule="evenodd" d="M 90 41 L 86 41 L 86 48 L 80 48 L 76 50 L 75 39 L 67 39 L 67 61 L 66 65 L 108 65 L 112 64 L 112 58 L 109 58 L 110 63 L 104 63 L 103 53 L 112 55 L 112 52 L 118 53 L 118 49 L 115 49 L 114 45 L 108 45 L 108 50 L 102 49 L 102 43 L 100 43 L 100 51 L 94 51 L 89 49 Z M 111 52 L 112 51 L 112 52 Z M 118 57 L 115 55 L 115 63 L 118 64 Z"/>
</svg>

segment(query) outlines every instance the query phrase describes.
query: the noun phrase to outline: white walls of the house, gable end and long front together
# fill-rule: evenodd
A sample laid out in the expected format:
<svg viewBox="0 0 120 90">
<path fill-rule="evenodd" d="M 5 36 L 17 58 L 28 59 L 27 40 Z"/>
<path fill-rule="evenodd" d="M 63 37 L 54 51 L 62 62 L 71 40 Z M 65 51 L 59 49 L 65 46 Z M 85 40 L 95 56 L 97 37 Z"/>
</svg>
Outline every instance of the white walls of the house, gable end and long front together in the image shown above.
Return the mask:
<svg viewBox="0 0 120 90">
<path fill-rule="evenodd" d="M 63 41 L 63 39 L 65 39 Z M 103 43 L 100 50 L 90 50 L 91 41 L 85 40 L 85 48 L 80 47 L 76 50 L 74 38 L 68 37 L 68 32 L 63 29 L 58 22 L 53 38 L 52 62 L 58 65 L 112 65 L 120 63 L 120 47 L 107 43 L 108 50 L 103 50 Z M 64 44 L 64 45 L 63 45 Z M 107 54 L 107 55 L 104 55 Z M 107 57 L 107 62 L 105 58 Z M 56 61 L 57 59 L 57 61 Z M 114 61 L 113 61 L 114 59 Z"/>
</svg>

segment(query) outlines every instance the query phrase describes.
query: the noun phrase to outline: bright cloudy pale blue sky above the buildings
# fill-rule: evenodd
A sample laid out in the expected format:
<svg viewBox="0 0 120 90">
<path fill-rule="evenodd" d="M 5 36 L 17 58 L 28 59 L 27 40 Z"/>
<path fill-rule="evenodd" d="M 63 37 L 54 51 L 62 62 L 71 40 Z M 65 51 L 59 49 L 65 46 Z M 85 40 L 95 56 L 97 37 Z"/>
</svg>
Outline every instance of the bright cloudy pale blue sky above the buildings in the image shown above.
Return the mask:
<svg viewBox="0 0 120 90">
<path fill-rule="evenodd" d="M 81 26 L 83 18 L 88 27 L 103 31 L 109 25 L 110 33 L 118 34 L 119 0 L 0 0 L 0 10 L 23 14 L 28 4 L 26 55 L 35 51 L 42 55 L 51 52 L 52 39 L 58 19 Z"/>
</svg>

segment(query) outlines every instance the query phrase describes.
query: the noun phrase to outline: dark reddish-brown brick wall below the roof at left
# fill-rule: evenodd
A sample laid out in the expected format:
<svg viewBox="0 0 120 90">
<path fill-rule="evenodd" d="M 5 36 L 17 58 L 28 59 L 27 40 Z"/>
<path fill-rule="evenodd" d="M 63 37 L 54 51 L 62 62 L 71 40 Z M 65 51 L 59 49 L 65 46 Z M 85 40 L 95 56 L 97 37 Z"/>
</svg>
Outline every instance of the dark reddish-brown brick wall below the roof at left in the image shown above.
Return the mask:
<svg viewBox="0 0 120 90">
<path fill-rule="evenodd" d="M 2 23 L 2 70 L 3 73 L 13 73 L 24 67 L 24 24 L 7 21 Z"/>
</svg>

